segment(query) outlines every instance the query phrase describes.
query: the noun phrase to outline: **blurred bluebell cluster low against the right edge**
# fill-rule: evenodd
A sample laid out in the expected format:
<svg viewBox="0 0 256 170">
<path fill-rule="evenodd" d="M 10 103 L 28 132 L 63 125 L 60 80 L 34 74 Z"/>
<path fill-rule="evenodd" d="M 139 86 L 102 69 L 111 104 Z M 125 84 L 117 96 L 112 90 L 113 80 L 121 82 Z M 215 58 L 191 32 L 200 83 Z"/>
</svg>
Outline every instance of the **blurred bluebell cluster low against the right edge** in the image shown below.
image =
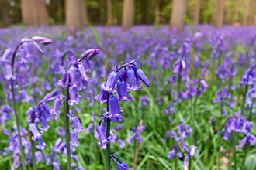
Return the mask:
<svg viewBox="0 0 256 170">
<path fill-rule="evenodd" d="M 244 138 L 239 141 L 239 148 L 244 148 L 245 144 L 256 145 L 256 137 L 251 134 L 252 121 L 247 121 L 247 117 L 241 116 L 237 112 L 232 117 L 227 118 L 227 123 L 222 129 L 223 140 L 228 141 L 232 132 L 244 134 Z"/>
</svg>

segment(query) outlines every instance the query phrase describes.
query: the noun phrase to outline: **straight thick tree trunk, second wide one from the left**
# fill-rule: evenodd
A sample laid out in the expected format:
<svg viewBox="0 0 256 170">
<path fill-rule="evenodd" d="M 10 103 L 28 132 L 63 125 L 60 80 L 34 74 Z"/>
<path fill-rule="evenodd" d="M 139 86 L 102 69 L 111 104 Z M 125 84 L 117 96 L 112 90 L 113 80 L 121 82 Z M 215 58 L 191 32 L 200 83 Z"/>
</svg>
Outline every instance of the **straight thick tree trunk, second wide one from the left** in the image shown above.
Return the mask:
<svg viewBox="0 0 256 170">
<path fill-rule="evenodd" d="M 66 26 L 71 32 L 76 32 L 85 26 L 85 1 L 66 1 Z"/>
</svg>

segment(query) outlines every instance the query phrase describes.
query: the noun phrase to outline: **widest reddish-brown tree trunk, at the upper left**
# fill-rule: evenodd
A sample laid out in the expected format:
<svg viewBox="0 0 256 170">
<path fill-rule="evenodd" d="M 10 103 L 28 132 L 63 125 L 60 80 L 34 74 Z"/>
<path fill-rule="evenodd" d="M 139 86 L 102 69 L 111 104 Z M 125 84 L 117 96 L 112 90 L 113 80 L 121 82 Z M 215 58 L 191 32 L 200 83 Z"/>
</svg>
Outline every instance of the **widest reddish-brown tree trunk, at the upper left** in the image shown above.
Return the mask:
<svg viewBox="0 0 256 170">
<path fill-rule="evenodd" d="M 21 0 L 22 22 L 26 26 L 48 25 L 48 13 L 44 0 Z"/>
</svg>

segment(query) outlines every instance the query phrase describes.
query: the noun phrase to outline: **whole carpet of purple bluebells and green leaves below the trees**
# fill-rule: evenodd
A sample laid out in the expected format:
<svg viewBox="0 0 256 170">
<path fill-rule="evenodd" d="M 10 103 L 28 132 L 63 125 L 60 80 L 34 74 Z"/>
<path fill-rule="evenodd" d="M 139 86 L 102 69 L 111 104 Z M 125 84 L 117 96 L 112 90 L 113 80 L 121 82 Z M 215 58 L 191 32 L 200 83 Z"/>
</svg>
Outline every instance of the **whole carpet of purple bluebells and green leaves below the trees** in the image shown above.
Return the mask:
<svg viewBox="0 0 256 170">
<path fill-rule="evenodd" d="M 255 61 L 255 26 L 0 29 L 0 169 L 256 169 Z"/>
</svg>

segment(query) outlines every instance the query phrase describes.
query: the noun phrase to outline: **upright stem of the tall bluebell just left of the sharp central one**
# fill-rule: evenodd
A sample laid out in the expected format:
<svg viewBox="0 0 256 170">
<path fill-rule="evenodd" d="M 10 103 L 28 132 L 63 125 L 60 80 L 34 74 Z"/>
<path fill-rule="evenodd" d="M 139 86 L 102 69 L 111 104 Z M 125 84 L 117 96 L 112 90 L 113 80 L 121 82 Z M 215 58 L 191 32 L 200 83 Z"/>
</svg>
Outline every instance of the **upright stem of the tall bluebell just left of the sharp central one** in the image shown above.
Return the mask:
<svg viewBox="0 0 256 170">
<path fill-rule="evenodd" d="M 68 100 L 70 99 L 69 96 L 69 85 L 70 79 L 68 80 L 68 85 L 67 85 L 67 99 L 66 99 L 66 110 L 65 110 L 65 140 L 66 140 L 66 146 L 67 146 L 67 170 L 71 170 L 71 146 L 70 146 L 70 131 L 69 131 L 69 117 L 68 113 L 70 110 Z"/>
</svg>

